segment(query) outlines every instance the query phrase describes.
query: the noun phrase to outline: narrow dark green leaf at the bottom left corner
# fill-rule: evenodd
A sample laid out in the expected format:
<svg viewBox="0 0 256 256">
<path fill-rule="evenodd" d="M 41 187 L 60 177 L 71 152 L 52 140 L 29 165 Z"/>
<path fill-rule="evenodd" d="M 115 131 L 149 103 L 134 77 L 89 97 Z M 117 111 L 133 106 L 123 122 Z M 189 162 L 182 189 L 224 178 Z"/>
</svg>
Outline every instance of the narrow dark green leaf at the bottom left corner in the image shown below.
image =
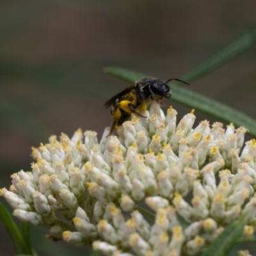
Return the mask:
<svg viewBox="0 0 256 256">
<path fill-rule="evenodd" d="M 0 220 L 3 222 L 16 254 L 29 254 L 26 248 L 26 243 L 20 234 L 20 230 L 12 219 L 10 213 L 6 210 L 3 204 L 0 203 Z"/>
</svg>

